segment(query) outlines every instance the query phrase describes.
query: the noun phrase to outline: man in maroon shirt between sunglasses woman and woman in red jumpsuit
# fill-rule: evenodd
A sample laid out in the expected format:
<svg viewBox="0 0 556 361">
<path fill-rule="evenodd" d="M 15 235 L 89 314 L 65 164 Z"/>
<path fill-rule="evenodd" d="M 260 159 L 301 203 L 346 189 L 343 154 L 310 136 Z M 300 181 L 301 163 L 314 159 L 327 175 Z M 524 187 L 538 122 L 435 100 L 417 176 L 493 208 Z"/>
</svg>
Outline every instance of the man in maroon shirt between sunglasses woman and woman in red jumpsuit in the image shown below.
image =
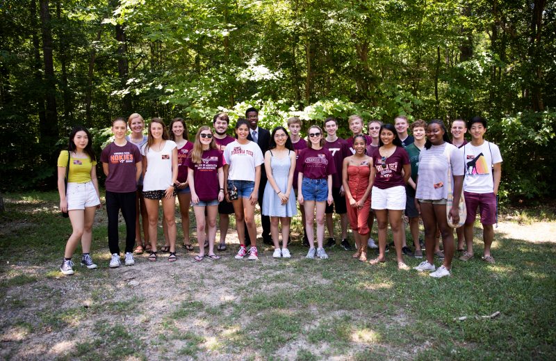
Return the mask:
<svg viewBox="0 0 556 361">
<path fill-rule="evenodd" d="M 347 142 L 336 136 L 336 131 L 338 131 L 338 121 L 336 118 L 331 117 L 325 120 L 325 131 L 327 132 L 327 137 L 325 138 L 324 147 L 332 153 L 334 165 L 336 166 L 336 173 L 332 175 L 332 197 L 334 198 L 334 203 L 330 205 L 327 204 L 325 208 L 326 227 L 329 236 L 326 246 L 332 247 L 336 245 L 336 239 L 334 239 L 334 223 L 332 220 L 332 212 L 336 209 L 336 214 L 340 215 L 342 232 L 342 241 L 340 245 L 347 250 L 351 247 L 350 243 L 347 241 L 347 207 L 342 186 L 342 164 L 343 159 L 350 156 L 351 152 Z"/>
</svg>

